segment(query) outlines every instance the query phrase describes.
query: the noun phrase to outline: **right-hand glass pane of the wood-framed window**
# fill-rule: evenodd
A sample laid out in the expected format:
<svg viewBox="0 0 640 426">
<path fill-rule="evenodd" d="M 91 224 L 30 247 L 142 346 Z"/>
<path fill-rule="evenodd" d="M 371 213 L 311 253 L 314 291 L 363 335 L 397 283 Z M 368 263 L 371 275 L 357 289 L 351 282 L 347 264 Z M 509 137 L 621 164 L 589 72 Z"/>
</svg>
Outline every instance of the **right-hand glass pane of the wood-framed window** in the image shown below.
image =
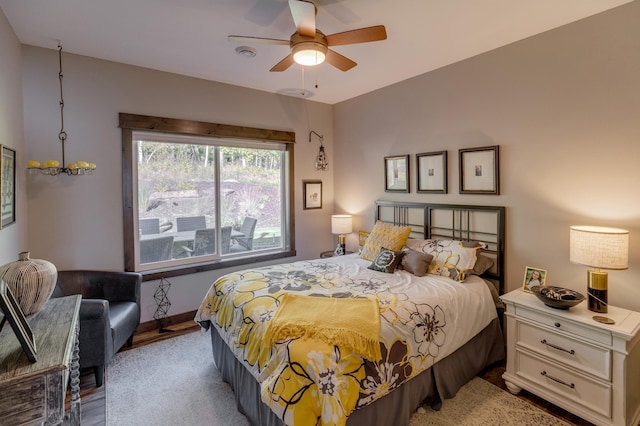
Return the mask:
<svg viewBox="0 0 640 426">
<path fill-rule="evenodd" d="M 220 147 L 220 216 L 236 234 L 231 254 L 282 247 L 283 159 L 283 151 Z"/>
</svg>

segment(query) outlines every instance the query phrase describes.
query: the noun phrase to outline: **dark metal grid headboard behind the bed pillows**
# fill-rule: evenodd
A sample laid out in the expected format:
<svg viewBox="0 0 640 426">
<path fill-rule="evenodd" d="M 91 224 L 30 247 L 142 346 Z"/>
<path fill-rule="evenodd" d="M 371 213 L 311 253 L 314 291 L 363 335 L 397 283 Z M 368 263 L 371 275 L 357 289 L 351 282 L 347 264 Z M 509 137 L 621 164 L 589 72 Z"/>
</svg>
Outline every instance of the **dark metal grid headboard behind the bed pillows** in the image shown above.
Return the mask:
<svg viewBox="0 0 640 426">
<path fill-rule="evenodd" d="M 505 208 L 460 204 L 432 204 L 378 200 L 375 221 L 411 226 L 409 238 L 481 241 L 494 266 L 482 277 L 504 293 Z"/>
</svg>

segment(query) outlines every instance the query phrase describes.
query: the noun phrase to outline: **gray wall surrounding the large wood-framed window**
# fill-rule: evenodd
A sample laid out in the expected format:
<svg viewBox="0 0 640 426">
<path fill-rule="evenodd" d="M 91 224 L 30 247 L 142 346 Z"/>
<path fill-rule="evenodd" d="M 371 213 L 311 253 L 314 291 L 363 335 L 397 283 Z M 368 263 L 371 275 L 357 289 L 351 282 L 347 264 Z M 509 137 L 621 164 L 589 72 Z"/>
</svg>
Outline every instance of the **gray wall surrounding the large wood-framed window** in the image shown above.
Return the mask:
<svg viewBox="0 0 640 426">
<path fill-rule="evenodd" d="M 57 51 L 23 46 L 22 52 L 27 146 L 23 158 L 60 159 Z M 66 53 L 63 72 L 66 160 L 92 161 L 98 167 L 91 176 L 26 177 L 33 257 L 47 259 L 59 270 L 122 270 L 119 112 L 295 131 L 298 257 L 318 257 L 333 247 L 333 173 L 314 170 L 319 144 L 308 142 L 310 125 L 325 135 L 333 162 L 329 105 Z M 322 179 L 323 209 L 302 210 L 303 179 Z M 171 278 L 169 314 L 196 309 L 222 272 L 228 270 Z M 143 284 L 143 321 L 153 316 L 156 286 L 157 282 Z"/>
</svg>

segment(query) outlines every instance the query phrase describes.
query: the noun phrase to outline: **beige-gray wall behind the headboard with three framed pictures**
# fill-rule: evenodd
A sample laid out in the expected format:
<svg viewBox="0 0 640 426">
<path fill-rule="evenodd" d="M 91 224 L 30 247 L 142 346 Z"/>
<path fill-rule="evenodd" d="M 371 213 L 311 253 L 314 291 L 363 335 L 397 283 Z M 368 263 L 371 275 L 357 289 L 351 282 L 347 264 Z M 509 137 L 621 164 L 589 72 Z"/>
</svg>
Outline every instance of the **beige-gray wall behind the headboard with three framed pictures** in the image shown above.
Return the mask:
<svg viewBox="0 0 640 426">
<path fill-rule="evenodd" d="M 609 271 L 609 300 L 640 310 L 638 22 L 636 1 L 334 106 L 336 209 L 368 229 L 378 198 L 504 205 L 510 290 L 529 265 L 586 292 L 569 226 L 626 228 L 629 269 Z M 494 144 L 501 195 L 460 195 L 458 149 Z M 440 150 L 449 194 L 384 192 L 384 156 L 412 154 L 415 188 L 414 154 Z"/>
</svg>

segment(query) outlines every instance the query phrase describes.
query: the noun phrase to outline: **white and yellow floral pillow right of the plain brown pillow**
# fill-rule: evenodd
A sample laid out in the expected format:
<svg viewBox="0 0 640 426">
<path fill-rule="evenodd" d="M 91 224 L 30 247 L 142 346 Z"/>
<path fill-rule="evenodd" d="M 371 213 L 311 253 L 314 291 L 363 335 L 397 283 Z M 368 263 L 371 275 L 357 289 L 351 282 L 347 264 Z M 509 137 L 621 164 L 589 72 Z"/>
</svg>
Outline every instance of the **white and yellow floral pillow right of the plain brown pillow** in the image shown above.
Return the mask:
<svg viewBox="0 0 640 426">
<path fill-rule="evenodd" d="M 433 256 L 427 273 L 464 281 L 476 264 L 477 252 L 484 246 L 477 242 L 457 240 L 419 240 L 411 249 Z"/>
</svg>

